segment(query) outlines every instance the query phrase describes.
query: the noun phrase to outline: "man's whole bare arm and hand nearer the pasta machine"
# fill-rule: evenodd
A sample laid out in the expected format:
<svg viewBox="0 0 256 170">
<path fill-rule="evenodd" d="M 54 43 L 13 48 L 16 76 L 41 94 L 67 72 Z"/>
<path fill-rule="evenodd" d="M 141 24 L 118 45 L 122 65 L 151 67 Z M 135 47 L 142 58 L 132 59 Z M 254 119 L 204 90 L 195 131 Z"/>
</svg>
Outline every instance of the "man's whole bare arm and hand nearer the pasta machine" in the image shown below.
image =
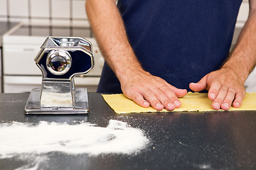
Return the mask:
<svg viewBox="0 0 256 170">
<path fill-rule="evenodd" d="M 127 38 L 115 0 L 87 0 L 87 16 L 105 61 L 117 75 L 122 91 L 142 107 L 173 111 L 181 106 L 178 97 L 187 91 L 176 89 L 164 79 L 145 72 Z"/>
</svg>

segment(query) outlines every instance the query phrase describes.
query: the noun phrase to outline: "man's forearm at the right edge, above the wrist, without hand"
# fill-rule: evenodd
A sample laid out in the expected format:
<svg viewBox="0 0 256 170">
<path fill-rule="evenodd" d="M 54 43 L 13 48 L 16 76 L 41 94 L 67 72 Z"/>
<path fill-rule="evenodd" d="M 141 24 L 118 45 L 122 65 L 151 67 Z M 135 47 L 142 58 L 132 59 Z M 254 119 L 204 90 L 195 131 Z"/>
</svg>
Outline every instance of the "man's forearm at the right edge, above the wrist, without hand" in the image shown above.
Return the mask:
<svg viewBox="0 0 256 170">
<path fill-rule="evenodd" d="M 223 68 L 232 69 L 241 81 L 245 81 L 256 64 L 256 10 L 250 15 L 240 33 L 238 42 Z"/>
</svg>

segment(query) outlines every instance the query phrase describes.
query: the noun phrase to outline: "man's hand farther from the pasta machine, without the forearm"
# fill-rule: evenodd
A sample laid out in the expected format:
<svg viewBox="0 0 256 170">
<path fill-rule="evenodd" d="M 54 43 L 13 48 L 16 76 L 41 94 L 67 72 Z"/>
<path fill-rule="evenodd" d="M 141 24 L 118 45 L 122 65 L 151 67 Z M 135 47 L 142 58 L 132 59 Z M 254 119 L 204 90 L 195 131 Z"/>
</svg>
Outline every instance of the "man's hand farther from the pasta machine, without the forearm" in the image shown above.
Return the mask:
<svg viewBox="0 0 256 170">
<path fill-rule="evenodd" d="M 215 110 L 222 108 L 225 111 L 232 105 L 239 108 L 242 99 L 245 98 L 245 80 L 238 77 L 232 69 L 222 68 L 210 72 L 198 83 L 191 83 L 189 87 L 193 91 L 208 90 L 208 98 L 213 101 Z"/>
</svg>

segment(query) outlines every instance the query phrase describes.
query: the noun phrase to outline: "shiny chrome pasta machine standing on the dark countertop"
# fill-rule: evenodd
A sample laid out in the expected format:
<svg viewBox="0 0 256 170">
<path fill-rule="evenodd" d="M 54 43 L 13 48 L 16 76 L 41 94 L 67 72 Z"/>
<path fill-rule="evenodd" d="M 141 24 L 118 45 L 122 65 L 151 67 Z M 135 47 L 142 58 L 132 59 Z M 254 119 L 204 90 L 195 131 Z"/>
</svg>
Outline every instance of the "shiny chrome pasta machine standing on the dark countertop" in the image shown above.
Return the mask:
<svg viewBox="0 0 256 170">
<path fill-rule="evenodd" d="M 35 58 L 43 74 L 41 89 L 33 89 L 26 114 L 88 113 L 87 89 L 75 89 L 74 77 L 93 68 L 92 45 L 84 38 L 48 37 Z"/>
</svg>

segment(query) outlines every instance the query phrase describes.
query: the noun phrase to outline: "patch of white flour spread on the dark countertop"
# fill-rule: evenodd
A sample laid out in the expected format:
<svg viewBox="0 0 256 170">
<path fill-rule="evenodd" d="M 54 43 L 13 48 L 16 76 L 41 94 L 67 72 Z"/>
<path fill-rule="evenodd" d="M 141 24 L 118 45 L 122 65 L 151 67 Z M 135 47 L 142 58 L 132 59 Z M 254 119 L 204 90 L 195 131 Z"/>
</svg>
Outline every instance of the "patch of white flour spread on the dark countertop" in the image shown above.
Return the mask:
<svg viewBox="0 0 256 170">
<path fill-rule="evenodd" d="M 3 123 L 0 136 L 0 159 L 48 152 L 133 154 L 149 143 L 142 130 L 130 128 L 118 120 L 110 120 L 106 128 L 90 123 Z"/>
</svg>

